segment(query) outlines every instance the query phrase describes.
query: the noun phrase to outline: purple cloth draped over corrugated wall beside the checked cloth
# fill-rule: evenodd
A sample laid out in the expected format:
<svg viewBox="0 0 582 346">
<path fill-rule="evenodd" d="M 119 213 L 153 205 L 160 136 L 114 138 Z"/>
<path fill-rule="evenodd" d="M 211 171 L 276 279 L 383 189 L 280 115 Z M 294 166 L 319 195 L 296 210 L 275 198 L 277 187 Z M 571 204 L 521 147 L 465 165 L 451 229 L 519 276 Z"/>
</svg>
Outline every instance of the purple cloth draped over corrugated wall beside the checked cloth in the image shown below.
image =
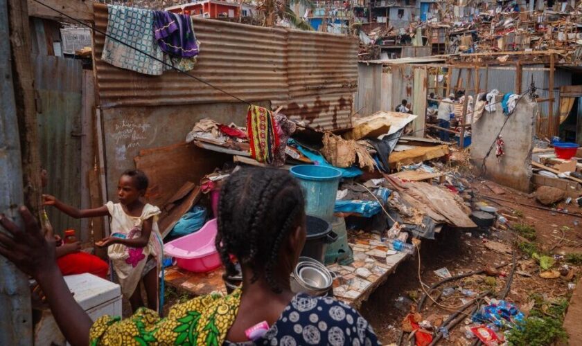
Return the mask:
<svg viewBox="0 0 582 346">
<path fill-rule="evenodd" d="M 173 57 L 198 55 L 198 44 L 190 16 L 153 11 L 153 20 L 154 36 L 162 51 Z"/>
</svg>

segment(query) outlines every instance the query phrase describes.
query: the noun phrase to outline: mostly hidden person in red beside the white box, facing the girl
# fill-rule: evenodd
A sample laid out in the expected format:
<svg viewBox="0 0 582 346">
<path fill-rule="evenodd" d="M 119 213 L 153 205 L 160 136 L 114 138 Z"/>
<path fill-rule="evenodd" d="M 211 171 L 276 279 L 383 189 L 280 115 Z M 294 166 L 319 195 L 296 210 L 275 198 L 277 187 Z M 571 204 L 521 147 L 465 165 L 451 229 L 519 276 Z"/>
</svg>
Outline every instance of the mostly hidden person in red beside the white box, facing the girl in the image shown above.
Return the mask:
<svg viewBox="0 0 582 346">
<path fill-rule="evenodd" d="M 40 172 L 42 188 L 48 185 L 48 172 Z M 65 243 L 55 235 L 57 263 L 62 275 L 91 273 L 105 279 L 109 273 L 109 264 L 95 255 L 81 251 L 81 242 Z"/>
</svg>

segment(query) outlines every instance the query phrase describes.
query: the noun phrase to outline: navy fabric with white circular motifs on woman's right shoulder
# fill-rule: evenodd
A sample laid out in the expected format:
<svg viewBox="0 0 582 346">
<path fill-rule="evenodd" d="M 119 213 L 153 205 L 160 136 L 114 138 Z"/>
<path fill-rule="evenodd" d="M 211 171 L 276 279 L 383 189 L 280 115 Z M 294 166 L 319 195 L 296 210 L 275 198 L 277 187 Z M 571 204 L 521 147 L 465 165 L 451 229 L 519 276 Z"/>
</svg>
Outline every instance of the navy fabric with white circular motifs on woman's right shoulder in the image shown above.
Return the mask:
<svg viewBox="0 0 582 346">
<path fill-rule="evenodd" d="M 283 310 L 279 320 L 254 343 L 247 345 L 354 345 L 376 346 L 378 338 L 358 311 L 333 298 L 312 297 L 299 293 Z"/>
</svg>

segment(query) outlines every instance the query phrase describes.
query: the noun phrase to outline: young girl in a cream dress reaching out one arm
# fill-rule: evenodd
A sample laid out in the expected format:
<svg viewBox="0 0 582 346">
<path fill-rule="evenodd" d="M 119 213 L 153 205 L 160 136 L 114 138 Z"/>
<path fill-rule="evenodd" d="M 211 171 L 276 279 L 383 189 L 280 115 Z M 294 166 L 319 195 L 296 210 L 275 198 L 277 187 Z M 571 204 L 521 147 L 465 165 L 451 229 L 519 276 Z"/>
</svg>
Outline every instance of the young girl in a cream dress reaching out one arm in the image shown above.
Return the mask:
<svg viewBox="0 0 582 346">
<path fill-rule="evenodd" d="M 133 311 L 144 306 L 140 280 L 145 286 L 148 307 L 158 309 L 158 277 L 163 243 L 157 226 L 159 208 L 140 200 L 148 190 L 148 184 L 148 177 L 141 170 L 127 170 L 121 174 L 117 186 L 119 203 L 109 201 L 95 209 L 78 210 L 51 195 L 43 195 L 45 206 L 55 206 L 76 219 L 111 217 L 112 235 L 97 242 L 96 246 L 107 247 L 121 292 L 130 300 Z"/>
</svg>

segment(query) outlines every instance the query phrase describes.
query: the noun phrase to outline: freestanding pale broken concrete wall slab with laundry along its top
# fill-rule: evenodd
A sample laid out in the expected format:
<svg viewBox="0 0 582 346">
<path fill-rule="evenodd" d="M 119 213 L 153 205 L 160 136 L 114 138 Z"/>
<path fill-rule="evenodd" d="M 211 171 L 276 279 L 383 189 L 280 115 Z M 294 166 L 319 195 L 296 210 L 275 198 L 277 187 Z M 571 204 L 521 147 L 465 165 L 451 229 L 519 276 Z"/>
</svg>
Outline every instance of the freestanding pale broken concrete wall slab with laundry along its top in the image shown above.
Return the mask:
<svg viewBox="0 0 582 346">
<path fill-rule="evenodd" d="M 537 104 L 527 95 L 518 101 L 509 119 L 503 113 L 501 104 L 497 111 L 484 111 L 483 116 L 473 124 L 473 138 L 470 145 L 471 162 L 477 174 L 487 179 L 524 192 L 529 192 L 531 171 L 531 150 L 533 135 L 536 133 Z M 505 126 L 503 124 L 507 120 Z M 503 127 L 503 129 L 502 129 Z M 505 155 L 495 157 L 495 145 L 482 165 L 491 145 L 500 133 L 504 140 Z"/>
</svg>

